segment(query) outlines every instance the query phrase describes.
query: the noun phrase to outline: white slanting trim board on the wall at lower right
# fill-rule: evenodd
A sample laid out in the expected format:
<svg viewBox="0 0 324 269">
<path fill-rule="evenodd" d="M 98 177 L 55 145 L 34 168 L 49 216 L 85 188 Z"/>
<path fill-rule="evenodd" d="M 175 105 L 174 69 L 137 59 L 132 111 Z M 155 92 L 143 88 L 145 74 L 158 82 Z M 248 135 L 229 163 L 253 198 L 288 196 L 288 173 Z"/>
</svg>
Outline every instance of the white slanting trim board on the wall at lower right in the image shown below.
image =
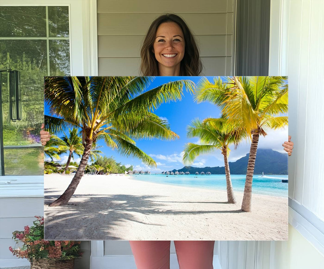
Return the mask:
<svg viewBox="0 0 324 269">
<path fill-rule="evenodd" d="M 289 224 L 299 231 L 303 237 L 305 237 L 320 253 L 324 255 L 324 233 L 322 232 L 324 230 L 324 222 L 318 219 L 305 207 L 296 206 L 297 203 L 291 198 L 288 198 L 288 203 Z"/>
</svg>

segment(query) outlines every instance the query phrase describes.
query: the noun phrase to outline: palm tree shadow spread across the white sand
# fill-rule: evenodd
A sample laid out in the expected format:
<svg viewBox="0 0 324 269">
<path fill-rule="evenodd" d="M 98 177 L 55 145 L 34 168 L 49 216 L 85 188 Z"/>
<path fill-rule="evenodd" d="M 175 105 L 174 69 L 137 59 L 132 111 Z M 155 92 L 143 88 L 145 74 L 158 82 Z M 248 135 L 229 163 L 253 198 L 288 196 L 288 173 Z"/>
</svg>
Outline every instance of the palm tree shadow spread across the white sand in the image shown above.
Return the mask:
<svg viewBox="0 0 324 269">
<path fill-rule="evenodd" d="M 58 192 L 58 191 L 54 191 Z M 46 195 L 46 193 L 51 193 Z M 46 240 L 125 240 L 115 236 L 114 230 L 132 229 L 129 222 L 136 222 L 150 226 L 166 225 L 152 223 L 149 215 L 190 215 L 206 213 L 244 213 L 238 210 L 172 210 L 169 203 L 199 203 L 204 202 L 176 202 L 156 201 L 153 199 L 163 196 L 133 196 L 133 195 L 74 195 L 67 205 L 48 207 L 60 195 L 52 195 L 53 191 L 44 190 L 44 237 Z M 82 201 L 80 199 L 82 198 Z M 228 204 L 228 202 L 207 202 L 207 204 Z M 127 224 L 127 223 L 128 224 Z M 121 227 L 120 227 L 121 226 Z M 130 231 L 136 234 L 137 231 Z"/>
</svg>

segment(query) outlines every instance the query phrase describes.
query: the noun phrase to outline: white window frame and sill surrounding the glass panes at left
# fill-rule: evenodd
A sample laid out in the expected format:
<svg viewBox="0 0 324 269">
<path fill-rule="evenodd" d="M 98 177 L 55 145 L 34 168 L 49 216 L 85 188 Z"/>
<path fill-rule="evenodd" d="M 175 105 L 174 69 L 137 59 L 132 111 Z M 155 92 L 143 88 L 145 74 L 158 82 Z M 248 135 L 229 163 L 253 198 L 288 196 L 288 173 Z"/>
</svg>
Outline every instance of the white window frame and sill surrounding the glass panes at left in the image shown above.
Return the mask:
<svg viewBox="0 0 324 269">
<path fill-rule="evenodd" d="M 96 0 L 1 0 L 0 6 L 68 6 L 71 75 L 98 75 Z M 0 197 L 43 196 L 43 182 L 42 175 L 0 176 Z"/>
</svg>

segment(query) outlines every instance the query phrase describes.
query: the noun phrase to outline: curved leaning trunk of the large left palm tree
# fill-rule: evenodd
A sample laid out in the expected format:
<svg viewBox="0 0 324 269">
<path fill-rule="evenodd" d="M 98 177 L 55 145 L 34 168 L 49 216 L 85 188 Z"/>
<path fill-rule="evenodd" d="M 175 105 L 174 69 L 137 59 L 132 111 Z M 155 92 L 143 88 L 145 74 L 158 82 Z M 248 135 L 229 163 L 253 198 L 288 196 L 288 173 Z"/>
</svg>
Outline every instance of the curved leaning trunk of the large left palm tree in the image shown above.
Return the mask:
<svg viewBox="0 0 324 269">
<path fill-rule="evenodd" d="M 64 191 L 64 193 L 60 197 L 58 197 L 54 202 L 52 202 L 52 204 L 49 205 L 50 207 L 67 205 L 67 203 L 71 199 L 72 195 L 74 194 L 75 189 L 76 189 L 77 185 L 79 184 L 81 177 L 84 174 L 84 171 L 86 170 L 86 166 L 87 166 L 89 156 L 90 156 L 90 151 L 92 148 L 92 140 L 86 140 L 85 143 L 86 144 L 84 147 L 80 165 L 79 165 L 78 169 L 76 170 L 76 173 L 75 173 L 70 185 L 67 187 L 67 189 Z"/>
</svg>

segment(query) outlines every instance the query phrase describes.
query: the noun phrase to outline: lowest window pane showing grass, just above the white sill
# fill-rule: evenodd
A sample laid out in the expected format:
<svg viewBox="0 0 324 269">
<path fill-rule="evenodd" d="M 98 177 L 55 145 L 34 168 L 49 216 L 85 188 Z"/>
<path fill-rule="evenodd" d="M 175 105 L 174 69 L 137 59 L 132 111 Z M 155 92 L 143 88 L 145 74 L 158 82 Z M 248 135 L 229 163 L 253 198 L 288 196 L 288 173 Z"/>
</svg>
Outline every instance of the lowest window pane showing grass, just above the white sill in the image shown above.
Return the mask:
<svg viewBox="0 0 324 269">
<path fill-rule="evenodd" d="M 44 148 L 4 149 L 6 175 L 44 174 Z"/>
</svg>

